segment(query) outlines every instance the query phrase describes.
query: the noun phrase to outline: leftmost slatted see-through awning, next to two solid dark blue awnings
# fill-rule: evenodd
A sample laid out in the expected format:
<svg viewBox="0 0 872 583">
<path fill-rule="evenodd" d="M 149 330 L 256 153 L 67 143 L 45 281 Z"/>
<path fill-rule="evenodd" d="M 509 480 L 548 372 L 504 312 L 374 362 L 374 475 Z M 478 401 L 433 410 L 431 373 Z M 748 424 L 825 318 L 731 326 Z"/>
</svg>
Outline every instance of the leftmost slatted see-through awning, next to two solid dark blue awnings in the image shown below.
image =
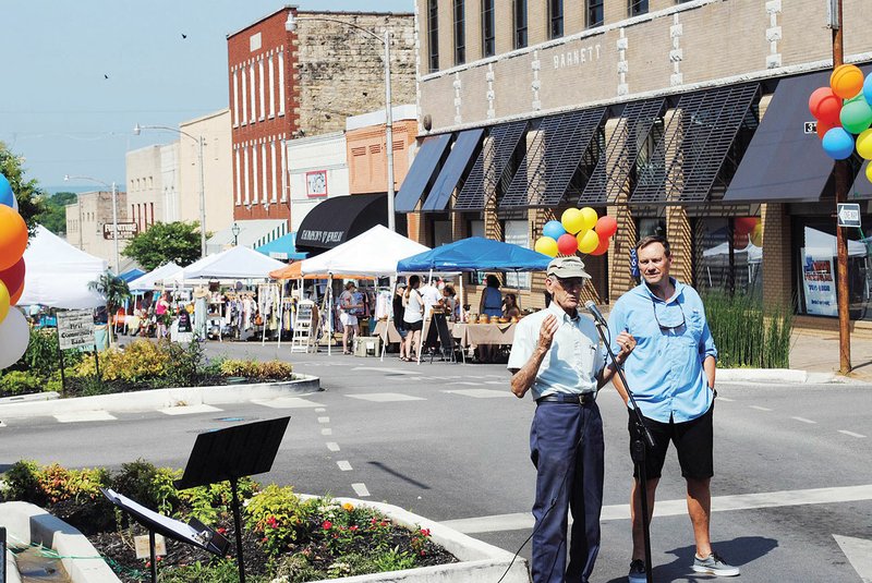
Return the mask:
<svg viewBox="0 0 872 583">
<path fill-rule="evenodd" d="M 484 210 L 499 184 L 504 190 L 509 187 L 509 166 L 525 131 L 526 121 L 504 123 L 491 129 L 470 175 L 457 195 L 455 210 Z"/>
</svg>

